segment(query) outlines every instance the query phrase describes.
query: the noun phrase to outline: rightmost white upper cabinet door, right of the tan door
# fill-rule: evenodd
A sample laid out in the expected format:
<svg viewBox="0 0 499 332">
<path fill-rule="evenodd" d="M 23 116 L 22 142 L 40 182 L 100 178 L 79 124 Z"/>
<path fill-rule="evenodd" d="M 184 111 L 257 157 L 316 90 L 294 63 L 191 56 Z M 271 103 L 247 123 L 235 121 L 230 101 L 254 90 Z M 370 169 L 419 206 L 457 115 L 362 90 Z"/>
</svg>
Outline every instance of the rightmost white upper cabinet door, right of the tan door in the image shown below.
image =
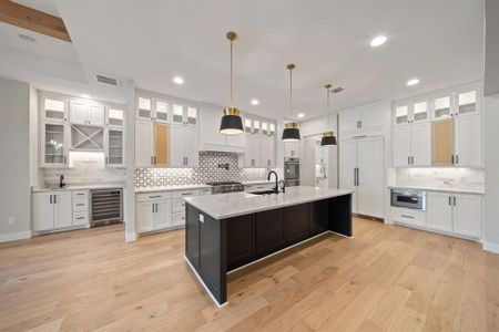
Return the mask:
<svg viewBox="0 0 499 332">
<path fill-rule="evenodd" d="M 456 118 L 456 165 L 482 166 L 480 115 Z"/>
</svg>

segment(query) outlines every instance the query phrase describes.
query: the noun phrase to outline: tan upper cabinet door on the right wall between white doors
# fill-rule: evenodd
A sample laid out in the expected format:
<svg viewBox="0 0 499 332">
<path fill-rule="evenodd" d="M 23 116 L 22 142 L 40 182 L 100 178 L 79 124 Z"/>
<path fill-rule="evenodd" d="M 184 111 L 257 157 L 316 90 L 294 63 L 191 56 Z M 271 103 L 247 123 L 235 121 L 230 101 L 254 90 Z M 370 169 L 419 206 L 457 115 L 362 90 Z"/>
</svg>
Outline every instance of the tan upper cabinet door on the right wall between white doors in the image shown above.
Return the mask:
<svg viewBox="0 0 499 332">
<path fill-rule="evenodd" d="M 454 165 L 454 118 L 431 123 L 431 165 Z"/>
</svg>

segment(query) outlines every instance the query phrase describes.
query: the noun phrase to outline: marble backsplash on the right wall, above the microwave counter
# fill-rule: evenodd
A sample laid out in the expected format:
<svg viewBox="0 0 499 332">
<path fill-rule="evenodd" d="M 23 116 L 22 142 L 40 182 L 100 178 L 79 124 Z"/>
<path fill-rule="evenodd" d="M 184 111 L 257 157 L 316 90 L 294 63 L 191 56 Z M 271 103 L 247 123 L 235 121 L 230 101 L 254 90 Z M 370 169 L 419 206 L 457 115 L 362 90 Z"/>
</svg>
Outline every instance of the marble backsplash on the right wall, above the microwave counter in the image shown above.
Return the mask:
<svg viewBox="0 0 499 332">
<path fill-rule="evenodd" d="M 485 174 L 464 167 L 397 168 L 393 180 L 396 186 L 483 188 Z"/>
</svg>

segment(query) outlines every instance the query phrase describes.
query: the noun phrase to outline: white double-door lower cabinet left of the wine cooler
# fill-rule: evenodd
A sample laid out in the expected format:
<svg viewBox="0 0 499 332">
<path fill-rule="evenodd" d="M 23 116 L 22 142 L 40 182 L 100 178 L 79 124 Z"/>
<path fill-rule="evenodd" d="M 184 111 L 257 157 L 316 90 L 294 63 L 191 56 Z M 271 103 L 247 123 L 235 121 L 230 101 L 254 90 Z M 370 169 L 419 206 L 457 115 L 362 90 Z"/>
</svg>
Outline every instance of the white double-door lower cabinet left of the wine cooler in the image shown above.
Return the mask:
<svg viewBox="0 0 499 332">
<path fill-rule="evenodd" d="M 72 193 L 48 191 L 33 194 L 33 229 L 50 231 L 79 226 L 73 220 Z"/>
</svg>

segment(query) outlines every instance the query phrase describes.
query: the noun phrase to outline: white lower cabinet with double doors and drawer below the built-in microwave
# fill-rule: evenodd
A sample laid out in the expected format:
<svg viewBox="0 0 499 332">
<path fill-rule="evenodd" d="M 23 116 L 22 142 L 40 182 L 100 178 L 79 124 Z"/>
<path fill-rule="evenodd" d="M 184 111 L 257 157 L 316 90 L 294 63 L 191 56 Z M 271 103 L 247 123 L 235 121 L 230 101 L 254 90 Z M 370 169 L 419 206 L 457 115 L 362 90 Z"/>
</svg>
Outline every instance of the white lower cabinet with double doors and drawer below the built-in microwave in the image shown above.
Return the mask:
<svg viewBox="0 0 499 332">
<path fill-rule="evenodd" d="M 391 221 L 481 239 L 482 198 L 477 194 L 429 191 L 426 214 L 421 210 L 391 207 Z"/>
</svg>

